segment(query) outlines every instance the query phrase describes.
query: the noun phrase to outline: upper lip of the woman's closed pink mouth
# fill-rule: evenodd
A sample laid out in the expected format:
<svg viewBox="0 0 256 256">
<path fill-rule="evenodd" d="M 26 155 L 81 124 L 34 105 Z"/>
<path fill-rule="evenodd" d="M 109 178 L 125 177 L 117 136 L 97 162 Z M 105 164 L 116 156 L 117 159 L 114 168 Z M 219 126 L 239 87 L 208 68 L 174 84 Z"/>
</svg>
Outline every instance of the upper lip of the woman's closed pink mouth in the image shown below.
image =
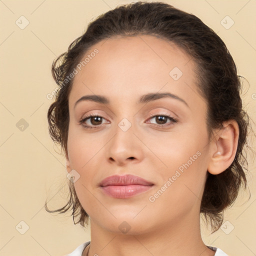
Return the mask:
<svg viewBox="0 0 256 256">
<path fill-rule="evenodd" d="M 126 174 L 126 175 L 112 175 L 104 178 L 99 183 L 100 186 L 108 185 L 130 185 L 130 184 L 139 184 L 139 185 L 153 185 L 152 182 L 145 180 L 139 176 Z"/>
</svg>

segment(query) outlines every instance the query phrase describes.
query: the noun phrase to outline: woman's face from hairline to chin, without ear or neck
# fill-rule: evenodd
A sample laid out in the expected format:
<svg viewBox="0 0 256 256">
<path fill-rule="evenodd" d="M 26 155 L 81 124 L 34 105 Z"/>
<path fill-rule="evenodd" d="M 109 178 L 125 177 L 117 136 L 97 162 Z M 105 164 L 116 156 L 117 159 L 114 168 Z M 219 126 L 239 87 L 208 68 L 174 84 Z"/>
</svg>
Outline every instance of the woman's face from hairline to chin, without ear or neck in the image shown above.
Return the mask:
<svg viewBox="0 0 256 256">
<path fill-rule="evenodd" d="M 97 43 L 82 61 L 68 98 L 66 157 L 91 223 L 136 234 L 197 220 L 209 141 L 193 60 L 173 43 L 140 35 Z M 146 96 L 150 93 L 159 96 Z M 108 103 L 79 100 L 87 95 Z M 98 117 L 79 123 L 89 115 Z M 126 193 L 124 187 L 99 185 L 124 174 L 153 185 L 140 185 L 135 194 L 138 185 L 126 186 Z"/>
</svg>

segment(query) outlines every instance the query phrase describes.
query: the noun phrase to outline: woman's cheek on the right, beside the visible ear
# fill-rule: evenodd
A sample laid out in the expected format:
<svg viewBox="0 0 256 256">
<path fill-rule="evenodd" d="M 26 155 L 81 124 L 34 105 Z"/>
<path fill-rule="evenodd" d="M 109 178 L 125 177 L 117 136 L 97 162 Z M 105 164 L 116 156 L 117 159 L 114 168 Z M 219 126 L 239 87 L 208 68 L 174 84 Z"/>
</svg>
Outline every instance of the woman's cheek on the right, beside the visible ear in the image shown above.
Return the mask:
<svg viewBox="0 0 256 256">
<path fill-rule="evenodd" d="M 154 147 L 155 154 L 161 160 L 158 173 L 162 185 L 168 187 L 164 192 L 166 198 L 162 197 L 162 200 L 173 200 L 175 204 L 179 204 L 181 198 L 182 202 L 200 198 L 207 172 L 206 130 L 192 125 L 184 127 L 182 131 L 159 136 L 158 146 Z"/>
</svg>

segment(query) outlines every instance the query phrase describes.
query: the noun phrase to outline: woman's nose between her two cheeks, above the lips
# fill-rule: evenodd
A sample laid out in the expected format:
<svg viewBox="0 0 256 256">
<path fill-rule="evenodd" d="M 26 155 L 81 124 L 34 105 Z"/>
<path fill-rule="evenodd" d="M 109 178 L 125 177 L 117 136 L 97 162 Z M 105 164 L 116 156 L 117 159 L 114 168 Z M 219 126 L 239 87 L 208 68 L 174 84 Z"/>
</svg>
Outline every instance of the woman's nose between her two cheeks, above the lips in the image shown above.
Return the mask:
<svg viewBox="0 0 256 256">
<path fill-rule="evenodd" d="M 141 161 L 143 157 L 143 143 L 135 135 L 133 126 L 127 130 L 123 129 L 122 122 L 117 125 L 114 136 L 108 143 L 108 160 L 122 166 L 129 163 Z"/>
</svg>

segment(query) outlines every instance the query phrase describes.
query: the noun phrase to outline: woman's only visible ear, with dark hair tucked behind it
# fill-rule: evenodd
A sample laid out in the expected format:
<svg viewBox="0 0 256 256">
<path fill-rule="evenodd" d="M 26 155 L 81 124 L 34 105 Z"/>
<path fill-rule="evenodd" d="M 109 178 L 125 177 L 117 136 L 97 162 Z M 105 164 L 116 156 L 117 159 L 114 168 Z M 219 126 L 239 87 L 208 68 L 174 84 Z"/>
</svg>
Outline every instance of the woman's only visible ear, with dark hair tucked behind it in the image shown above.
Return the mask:
<svg viewBox="0 0 256 256">
<path fill-rule="evenodd" d="M 239 127 L 235 120 L 228 120 L 210 142 L 208 172 L 219 174 L 234 160 L 239 137 Z"/>
</svg>

